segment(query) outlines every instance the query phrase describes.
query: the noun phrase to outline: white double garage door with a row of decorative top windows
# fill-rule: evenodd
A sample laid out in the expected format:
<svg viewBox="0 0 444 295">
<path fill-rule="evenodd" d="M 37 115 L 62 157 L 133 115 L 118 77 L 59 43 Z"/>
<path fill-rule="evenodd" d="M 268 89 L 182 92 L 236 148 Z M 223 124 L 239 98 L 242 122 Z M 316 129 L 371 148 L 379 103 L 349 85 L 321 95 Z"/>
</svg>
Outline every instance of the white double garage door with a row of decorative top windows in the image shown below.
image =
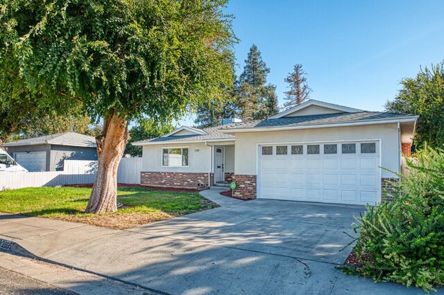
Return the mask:
<svg viewBox="0 0 444 295">
<path fill-rule="evenodd" d="M 259 148 L 259 198 L 339 204 L 379 202 L 378 142 Z"/>
</svg>

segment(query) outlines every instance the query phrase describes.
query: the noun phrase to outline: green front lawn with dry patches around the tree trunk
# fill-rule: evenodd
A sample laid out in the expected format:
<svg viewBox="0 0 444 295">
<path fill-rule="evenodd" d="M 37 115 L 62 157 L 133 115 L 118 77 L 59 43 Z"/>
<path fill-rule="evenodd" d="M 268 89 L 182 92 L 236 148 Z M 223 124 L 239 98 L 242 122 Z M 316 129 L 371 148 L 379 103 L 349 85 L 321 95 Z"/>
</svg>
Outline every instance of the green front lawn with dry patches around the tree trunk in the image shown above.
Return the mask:
<svg viewBox="0 0 444 295">
<path fill-rule="evenodd" d="M 117 201 L 123 207 L 95 215 L 83 213 L 90 193 L 91 188 L 68 187 L 5 190 L 0 192 L 0 212 L 129 229 L 218 206 L 198 193 L 120 187 Z"/>
</svg>

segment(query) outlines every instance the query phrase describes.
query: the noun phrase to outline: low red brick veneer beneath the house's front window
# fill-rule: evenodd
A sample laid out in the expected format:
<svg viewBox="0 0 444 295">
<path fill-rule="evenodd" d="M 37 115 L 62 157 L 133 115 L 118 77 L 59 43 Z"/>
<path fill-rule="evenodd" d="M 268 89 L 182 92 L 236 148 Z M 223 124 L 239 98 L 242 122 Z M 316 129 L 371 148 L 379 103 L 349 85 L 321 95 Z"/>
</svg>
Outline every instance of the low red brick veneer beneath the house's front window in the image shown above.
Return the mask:
<svg viewBox="0 0 444 295">
<path fill-rule="evenodd" d="M 210 174 L 212 186 L 213 174 Z M 207 172 L 141 172 L 142 186 L 167 186 L 171 188 L 197 188 L 198 184 L 208 186 Z"/>
</svg>

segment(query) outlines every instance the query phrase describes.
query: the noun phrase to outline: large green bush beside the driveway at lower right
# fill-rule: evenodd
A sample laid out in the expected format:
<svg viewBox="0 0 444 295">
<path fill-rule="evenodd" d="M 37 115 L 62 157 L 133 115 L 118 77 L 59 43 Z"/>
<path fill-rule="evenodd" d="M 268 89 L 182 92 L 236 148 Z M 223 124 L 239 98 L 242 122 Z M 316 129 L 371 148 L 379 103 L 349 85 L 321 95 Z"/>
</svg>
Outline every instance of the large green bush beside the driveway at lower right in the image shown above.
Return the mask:
<svg viewBox="0 0 444 295">
<path fill-rule="evenodd" d="M 357 217 L 358 263 L 343 269 L 376 281 L 422 287 L 444 285 L 444 152 L 425 147 L 409 177 L 385 191 L 392 202 L 368 206 Z"/>
</svg>

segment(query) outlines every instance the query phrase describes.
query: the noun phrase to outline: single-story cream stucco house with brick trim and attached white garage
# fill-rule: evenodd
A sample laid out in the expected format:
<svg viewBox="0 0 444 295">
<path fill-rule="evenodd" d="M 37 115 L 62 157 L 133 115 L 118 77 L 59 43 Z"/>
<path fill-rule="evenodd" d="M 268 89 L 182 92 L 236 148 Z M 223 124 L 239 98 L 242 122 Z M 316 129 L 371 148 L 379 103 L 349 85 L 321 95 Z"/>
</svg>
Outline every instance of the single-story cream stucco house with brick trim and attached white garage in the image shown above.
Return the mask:
<svg viewBox="0 0 444 295">
<path fill-rule="evenodd" d="M 418 116 L 309 100 L 266 120 L 180 127 L 143 147 L 141 183 L 234 181 L 234 196 L 340 204 L 381 202 L 409 156 Z M 383 170 L 382 168 L 388 170 Z"/>
</svg>

